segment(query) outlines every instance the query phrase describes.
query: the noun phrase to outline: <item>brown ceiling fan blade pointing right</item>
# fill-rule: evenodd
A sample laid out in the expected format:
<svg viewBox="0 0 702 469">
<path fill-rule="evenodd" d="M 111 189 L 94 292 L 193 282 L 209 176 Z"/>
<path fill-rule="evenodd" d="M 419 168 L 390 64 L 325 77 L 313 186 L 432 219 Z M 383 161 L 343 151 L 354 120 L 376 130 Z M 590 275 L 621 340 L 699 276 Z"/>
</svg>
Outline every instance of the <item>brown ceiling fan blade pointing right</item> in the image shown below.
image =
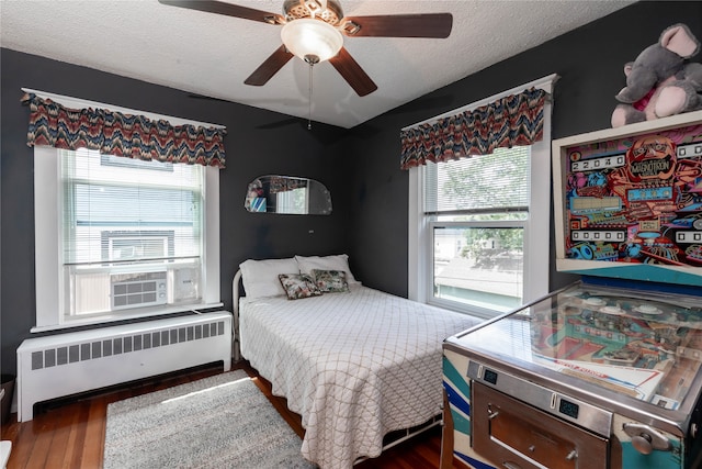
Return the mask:
<svg viewBox="0 0 702 469">
<path fill-rule="evenodd" d="M 347 16 L 340 22 L 348 36 L 376 37 L 437 37 L 451 34 L 451 13 L 385 14 L 373 16 Z"/>
</svg>

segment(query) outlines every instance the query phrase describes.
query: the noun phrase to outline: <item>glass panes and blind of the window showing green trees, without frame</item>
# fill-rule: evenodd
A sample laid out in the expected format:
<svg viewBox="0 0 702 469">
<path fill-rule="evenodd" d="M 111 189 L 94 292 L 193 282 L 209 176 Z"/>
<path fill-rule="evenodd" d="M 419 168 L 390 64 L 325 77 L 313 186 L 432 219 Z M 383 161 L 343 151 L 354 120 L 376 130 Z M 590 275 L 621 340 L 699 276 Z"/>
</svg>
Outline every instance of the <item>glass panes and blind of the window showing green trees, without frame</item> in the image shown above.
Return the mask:
<svg viewBox="0 0 702 469">
<path fill-rule="evenodd" d="M 531 147 L 422 169 L 431 299 L 492 313 L 522 304 Z"/>
</svg>

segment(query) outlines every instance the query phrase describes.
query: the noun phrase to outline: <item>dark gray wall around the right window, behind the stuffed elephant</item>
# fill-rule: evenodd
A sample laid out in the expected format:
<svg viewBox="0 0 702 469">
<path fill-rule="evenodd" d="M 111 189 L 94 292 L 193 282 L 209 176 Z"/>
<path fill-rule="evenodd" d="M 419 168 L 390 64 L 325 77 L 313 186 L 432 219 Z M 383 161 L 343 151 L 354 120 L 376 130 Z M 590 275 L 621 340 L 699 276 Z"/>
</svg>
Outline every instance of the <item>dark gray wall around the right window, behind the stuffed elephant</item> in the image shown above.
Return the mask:
<svg viewBox="0 0 702 469">
<path fill-rule="evenodd" d="M 409 182 L 407 171 L 399 169 L 400 129 L 551 74 L 561 76 L 553 138 L 608 129 L 614 94 L 625 83 L 624 64 L 676 23 L 688 24 L 702 40 L 702 2 L 635 3 L 355 127 L 349 253 L 354 276 L 370 287 L 407 295 Z M 471 49 L 456 51 L 455 59 L 464 54 Z M 702 54 L 694 59 L 701 62 Z M 541 210 L 553 213 L 553 208 Z M 552 289 L 578 278 L 555 271 L 553 243 L 543 261 L 551 265 Z"/>
</svg>

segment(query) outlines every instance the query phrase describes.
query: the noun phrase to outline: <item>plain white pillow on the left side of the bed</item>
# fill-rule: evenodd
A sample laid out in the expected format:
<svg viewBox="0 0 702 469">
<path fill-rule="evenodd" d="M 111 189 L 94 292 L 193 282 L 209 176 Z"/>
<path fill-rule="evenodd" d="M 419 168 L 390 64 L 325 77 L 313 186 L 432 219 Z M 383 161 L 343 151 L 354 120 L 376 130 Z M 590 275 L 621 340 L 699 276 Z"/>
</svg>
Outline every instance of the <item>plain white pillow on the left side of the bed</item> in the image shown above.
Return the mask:
<svg viewBox="0 0 702 469">
<path fill-rule="evenodd" d="M 279 273 L 298 273 L 297 261 L 287 259 L 249 259 L 239 264 L 241 269 L 241 282 L 248 299 L 254 300 L 262 297 L 276 297 L 285 294 Z"/>
</svg>

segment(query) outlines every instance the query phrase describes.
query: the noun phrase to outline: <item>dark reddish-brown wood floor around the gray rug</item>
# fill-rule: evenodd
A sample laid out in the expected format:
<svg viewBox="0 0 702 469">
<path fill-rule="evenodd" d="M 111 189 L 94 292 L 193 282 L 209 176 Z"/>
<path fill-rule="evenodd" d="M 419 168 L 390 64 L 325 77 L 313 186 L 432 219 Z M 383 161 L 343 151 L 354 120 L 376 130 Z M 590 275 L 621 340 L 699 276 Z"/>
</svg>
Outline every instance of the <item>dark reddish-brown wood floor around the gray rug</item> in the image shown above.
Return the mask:
<svg viewBox="0 0 702 469">
<path fill-rule="evenodd" d="M 271 395 L 270 383 L 258 377 L 246 364 L 245 369 L 263 393 L 271 400 L 291 427 L 302 437 L 304 429 L 299 415 L 287 410 L 285 400 Z M 222 367 L 205 367 L 177 375 L 134 383 L 129 388 L 112 389 L 102 393 L 55 401 L 35 410 L 34 420 L 16 422 L 12 414 L 2 426 L 2 439 L 12 442 L 8 469 L 69 468 L 95 469 L 102 467 L 106 409 L 111 402 L 183 384 L 222 372 Z M 387 449 L 381 457 L 367 459 L 359 469 L 433 469 L 439 468 L 441 431 L 439 426 Z"/>
</svg>

